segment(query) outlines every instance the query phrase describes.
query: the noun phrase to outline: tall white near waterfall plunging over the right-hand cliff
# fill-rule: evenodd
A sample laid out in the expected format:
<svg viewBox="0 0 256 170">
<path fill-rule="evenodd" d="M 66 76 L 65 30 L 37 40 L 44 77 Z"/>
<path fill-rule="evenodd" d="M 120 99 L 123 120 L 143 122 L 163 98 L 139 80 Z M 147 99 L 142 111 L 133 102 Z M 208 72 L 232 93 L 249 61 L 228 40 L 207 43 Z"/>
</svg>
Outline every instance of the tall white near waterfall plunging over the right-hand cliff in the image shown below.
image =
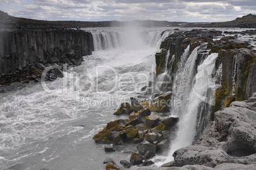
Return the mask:
<svg viewBox="0 0 256 170">
<path fill-rule="evenodd" d="M 174 78 L 173 95 L 174 100 L 176 100 L 175 103 L 179 103 L 179 105 L 174 106 L 174 109 L 171 110 L 171 114 L 180 118 L 178 122 L 178 132 L 176 133 L 176 138 L 171 141 L 171 148 L 167 157 L 156 158 L 156 160 L 160 159 L 160 162 L 156 164 L 157 166 L 171 162 L 173 160 L 173 152 L 179 148 L 191 145 L 195 137 L 197 109 L 199 103 L 207 102 L 208 87 L 213 84 L 212 81 L 209 81 L 209 78 L 218 57 L 217 53 L 209 55 L 204 60 L 203 64 L 197 67 L 196 73 L 195 64 L 198 48 L 200 48 L 200 46 L 197 46 L 190 54 L 184 66 L 179 67 Z M 184 55 L 187 55 L 186 50 Z"/>
</svg>

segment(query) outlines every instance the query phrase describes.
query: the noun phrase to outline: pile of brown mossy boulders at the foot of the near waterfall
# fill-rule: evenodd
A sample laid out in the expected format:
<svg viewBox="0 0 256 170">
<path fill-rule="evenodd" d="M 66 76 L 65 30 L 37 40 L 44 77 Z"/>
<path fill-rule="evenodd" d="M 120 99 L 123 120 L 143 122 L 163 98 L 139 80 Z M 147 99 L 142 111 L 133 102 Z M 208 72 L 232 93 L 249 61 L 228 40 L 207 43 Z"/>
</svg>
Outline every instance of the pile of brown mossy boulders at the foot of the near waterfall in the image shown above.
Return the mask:
<svg viewBox="0 0 256 170">
<path fill-rule="evenodd" d="M 168 108 L 166 103 L 170 97 L 171 92 L 166 92 L 155 95 L 151 102 L 144 101 L 143 103 L 139 103 L 137 99 L 132 97 L 131 104 L 122 103 L 114 113 L 114 115 L 126 114 L 129 119 L 109 122 L 103 131 L 94 136 L 94 140 L 97 143 L 115 145 L 129 142 L 139 143 L 137 146 L 138 153 L 131 153 L 131 164 L 143 164 L 143 166 L 153 164 L 148 159 L 154 157 L 155 153 L 163 152 L 168 148 L 169 130 L 178 122 L 177 117 L 170 117 L 169 113 L 166 112 Z"/>
</svg>

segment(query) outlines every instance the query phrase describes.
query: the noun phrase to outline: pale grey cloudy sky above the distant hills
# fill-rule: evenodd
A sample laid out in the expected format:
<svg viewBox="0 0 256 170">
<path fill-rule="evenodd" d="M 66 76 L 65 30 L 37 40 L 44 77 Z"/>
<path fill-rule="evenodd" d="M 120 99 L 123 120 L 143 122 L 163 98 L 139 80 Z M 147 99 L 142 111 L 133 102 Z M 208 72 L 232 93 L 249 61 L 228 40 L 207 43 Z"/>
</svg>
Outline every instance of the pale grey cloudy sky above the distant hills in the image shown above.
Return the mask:
<svg viewBox="0 0 256 170">
<path fill-rule="evenodd" d="M 218 22 L 256 14 L 256 0 L 0 0 L 0 10 L 39 20 Z"/>
</svg>

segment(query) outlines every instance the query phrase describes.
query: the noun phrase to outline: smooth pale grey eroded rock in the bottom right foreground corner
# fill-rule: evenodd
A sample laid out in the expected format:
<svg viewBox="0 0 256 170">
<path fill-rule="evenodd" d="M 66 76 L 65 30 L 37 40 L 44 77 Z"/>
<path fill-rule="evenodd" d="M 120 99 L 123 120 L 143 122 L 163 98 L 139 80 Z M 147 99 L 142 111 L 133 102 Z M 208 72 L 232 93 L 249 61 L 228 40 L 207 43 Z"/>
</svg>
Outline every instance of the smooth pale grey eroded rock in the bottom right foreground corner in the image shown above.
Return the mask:
<svg viewBox="0 0 256 170">
<path fill-rule="evenodd" d="M 229 108 L 217 111 L 215 122 L 208 125 L 196 145 L 176 150 L 173 156 L 174 166 L 179 167 L 255 164 L 256 93 L 247 101 L 235 101 Z M 225 166 L 220 167 L 223 169 Z"/>
</svg>

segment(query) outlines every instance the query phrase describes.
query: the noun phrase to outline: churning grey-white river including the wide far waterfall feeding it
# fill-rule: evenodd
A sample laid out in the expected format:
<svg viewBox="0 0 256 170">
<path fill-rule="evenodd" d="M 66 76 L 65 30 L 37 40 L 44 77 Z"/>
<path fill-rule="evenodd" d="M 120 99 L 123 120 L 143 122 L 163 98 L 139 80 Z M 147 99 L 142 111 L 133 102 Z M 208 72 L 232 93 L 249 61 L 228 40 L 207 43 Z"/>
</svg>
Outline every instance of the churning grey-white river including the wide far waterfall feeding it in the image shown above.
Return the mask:
<svg viewBox="0 0 256 170">
<path fill-rule="evenodd" d="M 129 160 L 134 146 L 108 154 L 92 138 L 152 79 L 152 42 L 164 28 L 115 29 L 90 30 L 95 52 L 45 89 L 41 83 L 1 87 L 0 169 L 104 169 L 107 157 Z"/>
</svg>

